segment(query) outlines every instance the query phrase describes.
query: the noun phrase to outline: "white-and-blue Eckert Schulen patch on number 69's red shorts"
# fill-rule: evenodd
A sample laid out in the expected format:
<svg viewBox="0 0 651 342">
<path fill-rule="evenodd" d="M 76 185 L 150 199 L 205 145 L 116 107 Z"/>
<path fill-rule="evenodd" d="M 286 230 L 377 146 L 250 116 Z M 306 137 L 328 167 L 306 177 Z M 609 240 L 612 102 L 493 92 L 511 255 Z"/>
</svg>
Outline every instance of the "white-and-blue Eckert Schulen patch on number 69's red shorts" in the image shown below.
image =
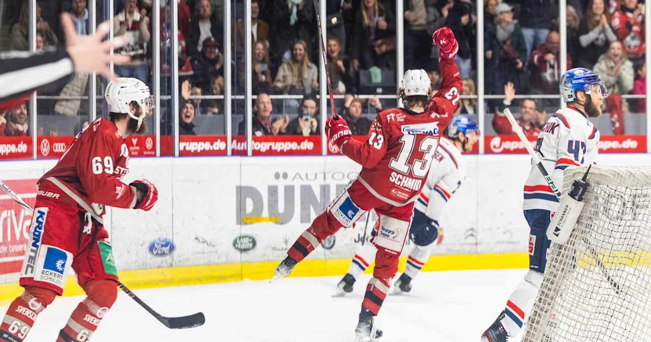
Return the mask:
<svg viewBox="0 0 651 342">
<path fill-rule="evenodd" d="M 72 264 L 72 253 L 54 246 L 43 245 L 38 253 L 34 280 L 50 283 L 61 289 L 66 285 L 66 274 Z"/>
</svg>

